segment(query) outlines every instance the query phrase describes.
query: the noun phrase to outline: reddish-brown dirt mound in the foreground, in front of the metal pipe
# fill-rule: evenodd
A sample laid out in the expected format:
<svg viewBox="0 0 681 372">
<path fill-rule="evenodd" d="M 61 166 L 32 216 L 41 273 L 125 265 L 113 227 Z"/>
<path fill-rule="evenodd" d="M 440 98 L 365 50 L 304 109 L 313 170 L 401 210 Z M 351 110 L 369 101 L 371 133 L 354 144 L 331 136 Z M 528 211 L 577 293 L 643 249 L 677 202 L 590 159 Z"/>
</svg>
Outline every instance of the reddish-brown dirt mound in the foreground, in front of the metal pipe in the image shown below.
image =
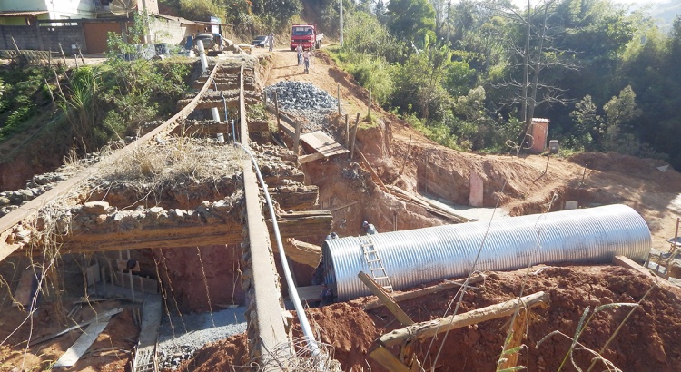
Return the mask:
<svg viewBox="0 0 681 372">
<path fill-rule="evenodd" d="M 528 334 L 523 341 L 518 364 L 536 367 L 538 370 L 557 370 L 568 355 L 570 339 L 563 335 L 548 336 L 558 330 L 573 337 L 579 319 L 588 308 L 589 314 L 600 305 L 618 302 L 636 303 L 653 287 L 650 277 L 628 269 L 612 266 L 601 267 L 542 267 L 515 272 L 489 273 L 478 291 L 464 297 L 459 313 L 482 308 L 512 299 L 524 288 L 523 295 L 547 291 L 550 296 L 548 308 L 534 308 L 531 312 Z M 405 312 L 416 322 L 439 318 L 445 314 L 456 290 L 428 297 L 411 299 L 400 303 Z M 374 339 L 400 328 L 395 318 L 385 308 L 365 312 L 362 303 L 370 298 L 356 299 L 350 303 L 334 304 L 325 308 L 308 310 L 312 324 L 318 328 L 322 342 L 335 348 L 335 357 L 343 370 L 384 370 L 367 350 Z M 592 350 L 603 348 L 608 338 L 622 325 L 603 352 L 603 356 L 624 371 L 656 370 L 674 371 L 681 367 L 681 293 L 678 289 L 655 288 L 647 294 L 641 306 L 624 322 L 630 307 L 613 307 L 597 312 L 584 327 L 578 341 Z M 447 366 L 449 370 L 493 370 L 506 337 L 508 318 L 479 323 L 449 332 L 447 338 L 440 335 L 434 342 L 424 339 L 417 346 L 417 356 L 424 367 L 433 364 Z M 298 328 L 294 336 L 301 336 Z M 548 337 L 547 337 L 548 336 Z M 543 343 L 538 341 L 547 337 Z M 444 345 L 442 346 L 442 343 Z M 242 359 L 208 357 L 219 348 L 231 350 L 234 355 L 246 354 L 242 338 L 232 338 L 202 349 L 182 370 L 230 370 L 243 365 Z M 219 345 L 219 347 L 218 347 Z M 437 358 L 439 348 L 442 353 Z M 394 349 L 397 354 L 399 350 Z M 222 351 L 221 353 L 222 354 Z M 577 366 L 587 368 L 591 354 L 584 349 L 573 354 Z M 205 361 L 205 362 L 204 362 Z M 569 365 L 569 361 L 567 365 Z M 192 366 L 189 368 L 188 366 Z M 604 366 L 597 365 L 597 370 Z M 195 368 L 195 369 L 194 369 Z M 238 367 L 236 367 L 239 370 Z M 533 368 L 534 369 L 534 368 Z M 568 370 L 572 367 L 568 367 Z"/>
</svg>

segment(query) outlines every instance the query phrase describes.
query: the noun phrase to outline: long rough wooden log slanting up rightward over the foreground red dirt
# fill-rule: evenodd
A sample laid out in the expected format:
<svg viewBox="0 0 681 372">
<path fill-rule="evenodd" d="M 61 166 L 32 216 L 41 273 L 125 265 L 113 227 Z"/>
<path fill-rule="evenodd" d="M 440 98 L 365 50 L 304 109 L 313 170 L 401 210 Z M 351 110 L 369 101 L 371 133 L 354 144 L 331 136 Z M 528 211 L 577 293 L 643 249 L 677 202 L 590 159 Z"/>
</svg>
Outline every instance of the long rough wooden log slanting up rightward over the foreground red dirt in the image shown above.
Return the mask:
<svg viewBox="0 0 681 372">
<path fill-rule="evenodd" d="M 511 299 L 486 308 L 478 308 L 464 314 L 452 315 L 427 322 L 413 324 L 407 328 L 395 329 L 379 338 L 382 345 L 391 347 L 408 339 L 431 338 L 448 330 L 470 326 L 486 320 L 508 317 L 519 306 L 532 308 L 548 302 L 548 294 L 537 292 L 521 299 Z"/>
</svg>

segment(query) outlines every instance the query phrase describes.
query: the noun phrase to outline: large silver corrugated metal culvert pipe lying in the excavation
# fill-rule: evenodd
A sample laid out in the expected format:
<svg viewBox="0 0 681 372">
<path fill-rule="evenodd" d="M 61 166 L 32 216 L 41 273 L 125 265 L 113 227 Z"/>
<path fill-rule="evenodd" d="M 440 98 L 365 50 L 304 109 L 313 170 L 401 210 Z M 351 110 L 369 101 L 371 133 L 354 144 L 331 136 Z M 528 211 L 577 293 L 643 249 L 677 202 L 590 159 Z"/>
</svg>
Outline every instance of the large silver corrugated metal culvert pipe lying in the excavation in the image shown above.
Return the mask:
<svg viewBox="0 0 681 372">
<path fill-rule="evenodd" d="M 650 250 L 646 221 L 626 205 L 469 222 L 371 235 L 393 289 L 469 274 L 511 270 L 538 263 L 606 263 L 616 255 L 642 262 Z M 483 244 L 484 240 L 484 244 Z M 371 275 L 360 238 L 326 240 L 322 247 L 326 281 L 338 299 L 370 294 L 357 278 Z"/>
</svg>

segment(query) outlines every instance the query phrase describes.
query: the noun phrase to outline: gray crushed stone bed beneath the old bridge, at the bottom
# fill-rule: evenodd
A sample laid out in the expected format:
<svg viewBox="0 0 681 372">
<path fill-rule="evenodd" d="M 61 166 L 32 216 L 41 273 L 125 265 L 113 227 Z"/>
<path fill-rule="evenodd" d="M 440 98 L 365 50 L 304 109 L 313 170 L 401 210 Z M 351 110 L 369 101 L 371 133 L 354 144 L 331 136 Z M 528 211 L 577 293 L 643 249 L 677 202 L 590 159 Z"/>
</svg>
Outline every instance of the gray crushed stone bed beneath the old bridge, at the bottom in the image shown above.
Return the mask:
<svg viewBox="0 0 681 372">
<path fill-rule="evenodd" d="M 195 313 L 164 317 L 159 327 L 159 367 L 174 370 L 206 344 L 245 332 L 245 311 L 245 307 L 239 307 L 213 312 L 212 316 Z"/>
</svg>

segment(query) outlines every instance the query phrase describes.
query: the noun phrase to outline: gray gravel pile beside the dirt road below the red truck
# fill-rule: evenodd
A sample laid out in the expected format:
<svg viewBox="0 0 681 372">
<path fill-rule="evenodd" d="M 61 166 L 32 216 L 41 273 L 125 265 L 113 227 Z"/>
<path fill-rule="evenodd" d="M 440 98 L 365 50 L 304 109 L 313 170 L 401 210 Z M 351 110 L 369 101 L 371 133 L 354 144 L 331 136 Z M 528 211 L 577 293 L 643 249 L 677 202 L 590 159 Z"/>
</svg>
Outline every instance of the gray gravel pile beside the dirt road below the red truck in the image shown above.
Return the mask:
<svg viewBox="0 0 681 372">
<path fill-rule="evenodd" d="M 282 81 L 268 86 L 265 92 L 270 102 L 277 92 L 279 109 L 301 120 L 302 132 L 325 130 L 327 116 L 338 110 L 338 100 L 312 83 Z"/>
</svg>

